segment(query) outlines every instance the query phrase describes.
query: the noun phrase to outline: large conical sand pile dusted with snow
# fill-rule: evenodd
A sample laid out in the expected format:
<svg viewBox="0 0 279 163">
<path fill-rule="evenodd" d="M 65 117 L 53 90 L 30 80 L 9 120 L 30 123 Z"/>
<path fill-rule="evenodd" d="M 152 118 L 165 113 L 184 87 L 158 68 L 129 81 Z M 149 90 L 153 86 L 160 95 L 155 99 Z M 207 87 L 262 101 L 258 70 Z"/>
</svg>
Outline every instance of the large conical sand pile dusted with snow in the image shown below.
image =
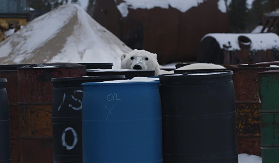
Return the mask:
<svg viewBox="0 0 279 163">
<path fill-rule="evenodd" d="M 0 64 L 113 63 L 132 50 L 76 4 L 48 12 L 0 43 Z"/>
</svg>

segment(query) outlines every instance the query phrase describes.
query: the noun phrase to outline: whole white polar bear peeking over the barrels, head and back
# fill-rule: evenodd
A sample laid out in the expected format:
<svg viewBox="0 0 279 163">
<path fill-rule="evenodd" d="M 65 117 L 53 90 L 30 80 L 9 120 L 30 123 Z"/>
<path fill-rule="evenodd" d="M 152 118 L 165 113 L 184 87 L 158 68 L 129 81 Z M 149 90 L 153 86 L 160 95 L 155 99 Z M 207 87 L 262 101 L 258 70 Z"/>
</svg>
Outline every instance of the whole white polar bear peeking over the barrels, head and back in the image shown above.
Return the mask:
<svg viewBox="0 0 279 163">
<path fill-rule="evenodd" d="M 133 50 L 129 54 L 122 54 L 121 69 L 141 69 L 147 71 L 155 71 L 155 76 L 174 73 L 174 71 L 160 70 L 160 66 L 157 61 L 157 54 L 153 54 L 146 50 L 137 49 Z M 191 65 L 180 67 L 177 70 L 188 69 L 225 69 L 225 67 L 212 63 L 193 63 Z"/>
</svg>

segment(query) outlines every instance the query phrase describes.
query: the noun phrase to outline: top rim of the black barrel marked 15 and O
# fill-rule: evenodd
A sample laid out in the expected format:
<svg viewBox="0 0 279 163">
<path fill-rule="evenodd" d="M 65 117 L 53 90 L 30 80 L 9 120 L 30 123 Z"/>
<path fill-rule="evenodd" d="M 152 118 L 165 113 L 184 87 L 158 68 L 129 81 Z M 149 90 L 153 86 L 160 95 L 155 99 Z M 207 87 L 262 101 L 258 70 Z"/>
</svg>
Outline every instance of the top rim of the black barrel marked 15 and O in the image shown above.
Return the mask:
<svg viewBox="0 0 279 163">
<path fill-rule="evenodd" d="M 81 76 L 81 77 L 68 77 L 68 78 L 52 78 L 51 82 L 68 82 L 68 81 L 82 81 L 82 80 L 100 80 L 100 79 L 125 79 L 125 75 L 107 75 L 107 76 Z"/>
</svg>

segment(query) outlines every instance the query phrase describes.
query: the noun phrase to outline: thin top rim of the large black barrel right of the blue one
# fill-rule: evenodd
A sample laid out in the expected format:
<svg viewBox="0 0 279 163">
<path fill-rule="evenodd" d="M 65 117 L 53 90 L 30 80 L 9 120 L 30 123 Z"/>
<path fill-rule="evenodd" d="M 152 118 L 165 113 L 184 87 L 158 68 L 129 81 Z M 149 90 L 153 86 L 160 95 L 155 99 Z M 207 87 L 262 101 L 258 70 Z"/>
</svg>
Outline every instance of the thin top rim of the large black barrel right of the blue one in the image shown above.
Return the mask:
<svg viewBox="0 0 279 163">
<path fill-rule="evenodd" d="M 183 75 L 183 74 L 200 74 L 200 73 L 217 73 L 217 72 L 226 72 L 221 74 L 211 74 L 211 75 Z M 182 75 L 175 75 L 182 74 Z M 201 78 L 215 78 L 215 77 L 224 77 L 224 76 L 232 76 L 232 70 L 220 70 L 220 71 L 196 71 L 196 72 L 188 72 L 188 73 L 175 73 L 175 74 L 162 74 L 159 75 L 160 79 L 201 79 Z"/>
</svg>

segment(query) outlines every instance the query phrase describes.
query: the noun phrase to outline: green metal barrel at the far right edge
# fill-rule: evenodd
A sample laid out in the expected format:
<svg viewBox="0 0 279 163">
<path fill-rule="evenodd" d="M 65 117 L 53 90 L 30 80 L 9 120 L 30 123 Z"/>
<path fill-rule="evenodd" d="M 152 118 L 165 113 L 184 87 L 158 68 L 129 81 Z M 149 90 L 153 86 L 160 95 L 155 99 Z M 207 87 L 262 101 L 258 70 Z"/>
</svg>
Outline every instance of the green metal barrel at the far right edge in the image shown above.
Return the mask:
<svg viewBox="0 0 279 163">
<path fill-rule="evenodd" d="M 279 163 L 279 70 L 258 73 L 262 163 Z"/>
</svg>

